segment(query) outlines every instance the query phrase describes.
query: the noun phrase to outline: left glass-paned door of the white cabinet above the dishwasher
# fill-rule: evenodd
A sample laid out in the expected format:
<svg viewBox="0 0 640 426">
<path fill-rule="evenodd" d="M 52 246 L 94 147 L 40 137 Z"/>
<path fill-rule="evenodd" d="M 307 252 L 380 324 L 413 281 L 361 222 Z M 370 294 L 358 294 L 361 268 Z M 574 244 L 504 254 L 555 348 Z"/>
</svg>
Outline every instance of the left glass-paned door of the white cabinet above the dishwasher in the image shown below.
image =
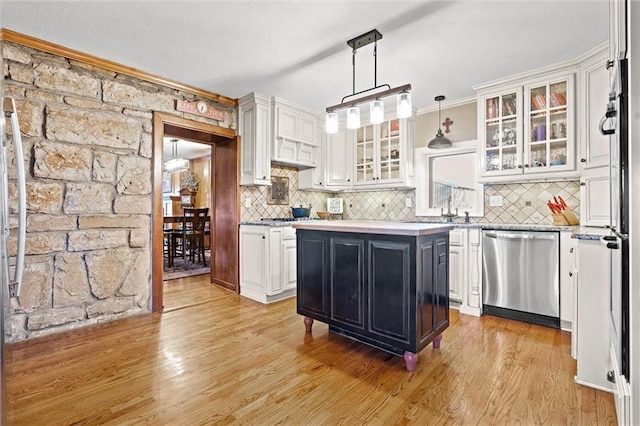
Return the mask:
<svg viewBox="0 0 640 426">
<path fill-rule="evenodd" d="M 483 172 L 485 176 L 522 173 L 521 90 L 484 98 Z"/>
</svg>

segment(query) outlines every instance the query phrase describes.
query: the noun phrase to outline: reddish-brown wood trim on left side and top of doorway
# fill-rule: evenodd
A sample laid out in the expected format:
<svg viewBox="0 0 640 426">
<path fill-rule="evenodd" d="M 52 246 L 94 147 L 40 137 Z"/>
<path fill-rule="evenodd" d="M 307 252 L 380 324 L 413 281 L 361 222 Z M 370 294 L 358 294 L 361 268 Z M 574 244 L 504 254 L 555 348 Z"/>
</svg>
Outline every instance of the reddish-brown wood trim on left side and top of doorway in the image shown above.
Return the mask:
<svg viewBox="0 0 640 426">
<path fill-rule="evenodd" d="M 187 131 L 208 133 L 212 135 L 212 138 L 210 141 L 202 141 L 202 142 L 211 144 L 214 147 L 214 151 L 215 151 L 215 145 L 217 141 L 237 142 L 239 140 L 239 138 L 235 134 L 235 131 L 231 129 L 215 126 L 208 123 L 202 123 L 199 121 L 193 121 L 186 118 L 177 117 L 177 116 L 173 116 L 173 115 L 169 115 L 161 112 L 153 113 L 153 147 L 152 147 L 152 155 L 151 155 L 152 183 L 153 183 L 152 213 L 151 213 L 151 235 L 152 235 L 151 303 L 152 303 L 153 312 L 161 312 L 163 308 L 162 143 L 163 143 L 163 137 L 165 135 L 165 126 L 173 126 L 176 128 L 185 129 Z M 238 170 L 237 167 L 238 165 L 236 164 L 236 173 Z M 212 168 L 213 168 L 213 161 L 212 161 Z M 213 175 L 213 173 L 211 175 Z M 238 191 L 239 189 L 236 188 L 236 194 L 238 194 Z M 238 196 L 236 196 L 236 203 L 238 202 L 237 200 L 239 200 Z M 212 232 L 214 227 L 215 226 L 212 223 L 212 226 L 211 226 Z M 236 256 L 236 263 L 237 261 L 238 259 Z M 225 287 L 229 288 L 228 285 L 225 285 Z M 235 290 L 237 292 L 238 291 L 237 281 L 236 281 L 235 287 L 236 287 Z"/>
</svg>

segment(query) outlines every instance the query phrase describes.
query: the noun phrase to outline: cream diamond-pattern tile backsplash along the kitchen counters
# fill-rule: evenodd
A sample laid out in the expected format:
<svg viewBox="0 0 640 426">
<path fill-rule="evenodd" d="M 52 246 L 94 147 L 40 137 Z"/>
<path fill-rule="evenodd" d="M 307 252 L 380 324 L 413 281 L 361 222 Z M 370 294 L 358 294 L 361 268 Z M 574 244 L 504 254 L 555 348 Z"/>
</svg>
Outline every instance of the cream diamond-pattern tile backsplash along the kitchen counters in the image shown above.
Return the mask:
<svg viewBox="0 0 640 426">
<path fill-rule="evenodd" d="M 366 192 L 312 192 L 298 190 L 298 173 L 293 167 L 271 167 L 272 176 L 289 178 L 289 204 L 268 204 L 271 187 L 241 187 L 241 220 L 257 221 L 265 217 L 290 217 L 291 206 L 311 206 L 312 217 L 318 211 L 327 210 L 327 198 L 344 200 L 343 219 L 370 219 L 402 222 L 438 222 L 440 217 L 416 217 L 414 211 L 415 190 L 385 190 Z M 576 214 L 580 212 L 580 183 L 578 181 L 511 183 L 484 186 L 484 217 L 471 218 L 480 223 L 551 224 L 552 219 L 546 205 L 547 200 L 560 195 Z M 491 196 L 502 196 L 502 206 L 492 207 Z M 251 207 L 245 207 L 246 198 Z M 406 207 L 406 199 L 411 206 Z M 455 221 L 462 221 L 456 219 Z"/>
</svg>

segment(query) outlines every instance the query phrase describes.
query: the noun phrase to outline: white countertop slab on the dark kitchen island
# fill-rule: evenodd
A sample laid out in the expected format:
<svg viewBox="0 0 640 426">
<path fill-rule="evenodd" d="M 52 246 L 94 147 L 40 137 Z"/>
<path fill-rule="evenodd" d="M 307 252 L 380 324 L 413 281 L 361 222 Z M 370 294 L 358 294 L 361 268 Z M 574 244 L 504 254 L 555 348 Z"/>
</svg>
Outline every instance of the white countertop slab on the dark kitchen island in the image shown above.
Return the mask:
<svg viewBox="0 0 640 426">
<path fill-rule="evenodd" d="M 404 223 L 378 220 L 314 220 L 293 222 L 296 229 L 314 231 L 357 232 L 386 235 L 428 235 L 449 232 L 453 223 Z"/>
</svg>

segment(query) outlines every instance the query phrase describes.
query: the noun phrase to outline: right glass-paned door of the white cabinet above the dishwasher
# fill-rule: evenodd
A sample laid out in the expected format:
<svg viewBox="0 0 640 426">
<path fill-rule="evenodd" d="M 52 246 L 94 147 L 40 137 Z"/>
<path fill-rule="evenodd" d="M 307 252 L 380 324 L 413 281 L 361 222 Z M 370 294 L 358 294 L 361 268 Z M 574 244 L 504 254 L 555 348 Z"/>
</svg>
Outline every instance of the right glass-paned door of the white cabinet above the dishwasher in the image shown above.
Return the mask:
<svg viewBox="0 0 640 426">
<path fill-rule="evenodd" d="M 573 79 L 525 87 L 524 172 L 573 169 L 571 110 Z"/>
</svg>

